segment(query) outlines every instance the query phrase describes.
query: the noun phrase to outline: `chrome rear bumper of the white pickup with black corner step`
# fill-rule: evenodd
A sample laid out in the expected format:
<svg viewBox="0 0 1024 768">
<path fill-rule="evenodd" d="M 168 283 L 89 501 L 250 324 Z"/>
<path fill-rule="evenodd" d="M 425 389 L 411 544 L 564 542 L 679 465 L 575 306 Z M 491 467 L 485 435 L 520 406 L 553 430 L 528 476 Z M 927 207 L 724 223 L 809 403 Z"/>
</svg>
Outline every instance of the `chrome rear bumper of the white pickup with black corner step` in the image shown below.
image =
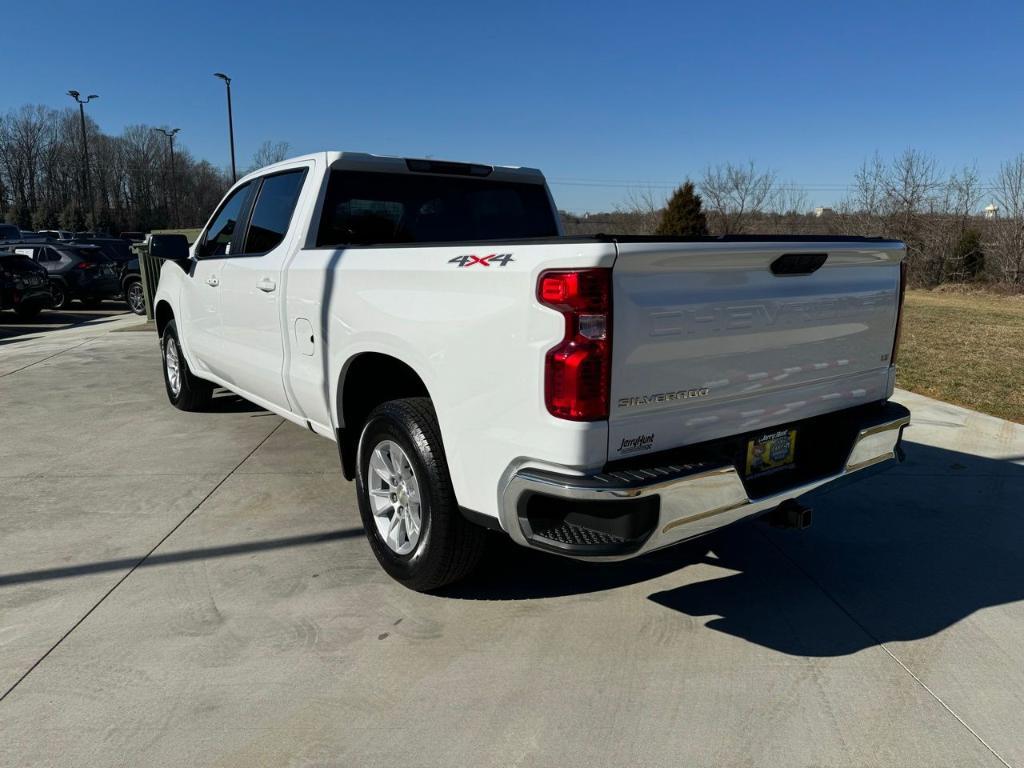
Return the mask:
<svg viewBox="0 0 1024 768">
<path fill-rule="evenodd" d="M 501 494 L 502 527 L 523 546 L 569 557 L 587 560 L 636 557 L 767 512 L 788 499 L 796 499 L 841 477 L 901 458 L 899 443 L 903 429 L 910 423 L 910 414 L 893 403 L 886 408 L 884 418 L 866 424 L 856 432 L 840 471 L 760 498 L 748 495 L 733 465 L 670 464 L 575 476 L 519 469 L 511 473 Z M 543 534 L 531 530 L 523 511 L 524 502 L 531 496 L 544 497 L 556 505 L 571 504 L 579 509 L 587 509 L 590 503 L 596 503 L 592 508 L 600 508 L 602 514 L 608 514 L 607 510 L 625 509 L 632 503 L 638 514 L 649 515 L 648 519 L 653 524 L 647 526 L 649 531 L 645 530 L 634 540 L 624 537 L 603 540 L 597 537 L 595 543 L 595 538 L 588 537 L 586 529 L 582 536 L 570 531 L 567 537 L 559 534 L 545 538 Z M 642 500 L 649 502 L 650 509 L 646 512 L 641 511 Z M 623 503 L 626 503 L 623 507 L 617 506 Z M 567 543 L 566 539 L 571 541 Z M 613 541 L 620 539 L 623 541 Z"/>
</svg>

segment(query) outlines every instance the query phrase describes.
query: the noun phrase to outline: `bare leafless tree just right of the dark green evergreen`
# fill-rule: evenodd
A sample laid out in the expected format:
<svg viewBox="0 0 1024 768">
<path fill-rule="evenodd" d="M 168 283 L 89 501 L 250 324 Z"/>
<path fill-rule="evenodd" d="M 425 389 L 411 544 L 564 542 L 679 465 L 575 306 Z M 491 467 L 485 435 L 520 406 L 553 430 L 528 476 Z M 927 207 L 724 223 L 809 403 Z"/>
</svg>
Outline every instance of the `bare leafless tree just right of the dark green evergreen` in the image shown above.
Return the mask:
<svg viewBox="0 0 1024 768">
<path fill-rule="evenodd" d="M 770 207 L 776 193 L 774 171 L 760 171 L 754 161 L 726 163 L 705 170 L 698 183 L 707 201 L 708 225 L 715 234 L 745 230 L 752 217 Z"/>
</svg>

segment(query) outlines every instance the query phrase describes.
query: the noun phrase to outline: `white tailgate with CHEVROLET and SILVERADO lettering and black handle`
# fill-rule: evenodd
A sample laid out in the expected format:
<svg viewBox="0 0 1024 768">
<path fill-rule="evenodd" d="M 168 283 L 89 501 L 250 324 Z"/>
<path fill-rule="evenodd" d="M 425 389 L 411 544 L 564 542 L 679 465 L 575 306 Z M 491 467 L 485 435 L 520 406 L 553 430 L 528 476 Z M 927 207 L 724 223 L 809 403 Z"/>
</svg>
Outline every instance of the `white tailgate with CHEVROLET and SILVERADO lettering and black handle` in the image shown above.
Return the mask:
<svg viewBox="0 0 1024 768">
<path fill-rule="evenodd" d="M 888 241 L 620 243 L 608 459 L 886 398 L 903 253 Z"/>
</svg>

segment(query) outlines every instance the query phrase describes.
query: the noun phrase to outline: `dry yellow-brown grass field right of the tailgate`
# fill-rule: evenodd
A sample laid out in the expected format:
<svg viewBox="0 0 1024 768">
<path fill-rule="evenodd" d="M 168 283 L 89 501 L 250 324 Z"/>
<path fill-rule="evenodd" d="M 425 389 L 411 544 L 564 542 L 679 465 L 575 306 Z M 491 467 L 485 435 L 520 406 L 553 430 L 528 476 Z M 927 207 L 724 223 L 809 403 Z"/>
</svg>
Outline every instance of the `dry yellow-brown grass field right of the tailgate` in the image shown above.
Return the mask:
<svg viewBox="0 0 1024 768">
<path fill-rule="evenodd" d="M 1024 424 L 1024 296 L 908 291 L 896 385 Z"/>
</svg>

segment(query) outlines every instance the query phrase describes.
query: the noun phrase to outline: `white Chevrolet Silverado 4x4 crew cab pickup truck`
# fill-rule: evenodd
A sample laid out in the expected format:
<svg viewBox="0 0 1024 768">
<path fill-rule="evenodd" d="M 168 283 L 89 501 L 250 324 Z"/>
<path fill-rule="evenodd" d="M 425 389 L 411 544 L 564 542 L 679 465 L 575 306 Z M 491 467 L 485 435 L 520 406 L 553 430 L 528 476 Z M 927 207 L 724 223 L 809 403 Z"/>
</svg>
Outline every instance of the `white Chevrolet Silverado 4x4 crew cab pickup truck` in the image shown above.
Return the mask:
<svg viewBox="0 0 1024 768">
<path fill-rule="evenodd" d="M 338 443 L 381 565 L 432 590 L 485 528 L 596 560 L 900 456 L 901 243 L 562 237 L 528 168 L 319 153 L 159 236 L 171 402 L 214 386 Z"/>
</svg>

